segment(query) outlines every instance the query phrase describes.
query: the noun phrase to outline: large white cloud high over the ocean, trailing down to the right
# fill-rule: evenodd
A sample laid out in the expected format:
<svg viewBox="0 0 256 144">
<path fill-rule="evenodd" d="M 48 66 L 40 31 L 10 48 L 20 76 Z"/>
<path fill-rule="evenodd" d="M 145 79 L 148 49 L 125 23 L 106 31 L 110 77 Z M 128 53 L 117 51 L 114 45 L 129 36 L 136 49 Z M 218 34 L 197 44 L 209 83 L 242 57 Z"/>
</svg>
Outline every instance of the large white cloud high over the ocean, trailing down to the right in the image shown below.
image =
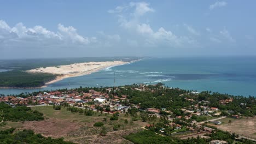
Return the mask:
<svg viewBox="0 0 256 144">
<path fill-rule="evenodd" d="M 165 44 L 168 46 L 181 46 L 185 43 L 194 43 L 195 40 L 188 37 L 182 37 L 174 34 L 171 31 L 167 31 L 165 28 L 160 27 L 157 31 L 154 31 L 153 28 L 149 25 L 149 23 L 141 22 L 144 15 L 151 12 L 153 13 L 155 10 L 149 7 L 149 3 L 139 2 L 139 3 L 130 3 L 125 7 L 125 12 L 120 11 L 117 14 L 118 22 L 120 23 L 120 27 L 125 28 L 130 33 L 133 34 L 139 40 L 136 40 L 136 45 L 138 43 L 142 43 L 142 45 L 156 45 L 156 44 Z M 118 7 L 117 7 L 118 8 Z M 115 8 L 113 11 L 118 11 Z M 129 11 L 127 14 L 126 12 Z M 200 33 L 196 32 L 193 28 L 190 28 L 190 31 L 193 31 L 195 35 L 199 35 Z M 132 40 L 129 40 L 129 44 L 131 44 Z M 128 42 L 128 41 L 127 41 Z"/>
</svg>

